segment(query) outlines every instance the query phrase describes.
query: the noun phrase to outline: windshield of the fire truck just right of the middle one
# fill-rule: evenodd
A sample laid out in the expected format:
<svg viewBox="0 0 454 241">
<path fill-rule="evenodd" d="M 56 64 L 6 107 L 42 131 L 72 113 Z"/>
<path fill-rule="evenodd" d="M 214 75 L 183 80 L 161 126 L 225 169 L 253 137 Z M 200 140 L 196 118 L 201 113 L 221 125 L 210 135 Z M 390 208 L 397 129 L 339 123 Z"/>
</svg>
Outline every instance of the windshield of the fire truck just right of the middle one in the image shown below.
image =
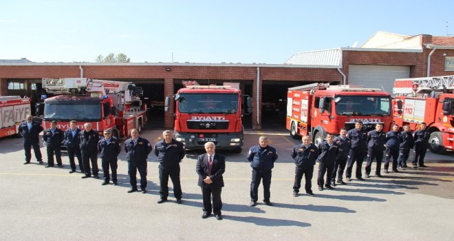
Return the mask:
<svg viewBox="0 0 454 241">
<path fill-rule="evenodd" d="M 389 96 L 336 96 L 336 114 L 340 116 L 389 116 Z"/>
</svg>

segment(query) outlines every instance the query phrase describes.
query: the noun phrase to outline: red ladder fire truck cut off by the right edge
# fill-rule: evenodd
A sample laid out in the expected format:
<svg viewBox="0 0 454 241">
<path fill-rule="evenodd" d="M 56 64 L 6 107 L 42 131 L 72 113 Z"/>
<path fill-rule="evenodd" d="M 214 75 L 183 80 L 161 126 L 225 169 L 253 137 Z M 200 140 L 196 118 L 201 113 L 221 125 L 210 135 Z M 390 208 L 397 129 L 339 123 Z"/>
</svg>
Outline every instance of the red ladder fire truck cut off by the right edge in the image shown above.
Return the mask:
<svg viewBox="0 0 454 241">
<path fill-rule="evenodd" d="M 454 75 L 398 78 L 394 83 L 393 121 L 418 129 L 427 123 L 429 148 L 442 154 L 454 148 Z"/>
</svg>

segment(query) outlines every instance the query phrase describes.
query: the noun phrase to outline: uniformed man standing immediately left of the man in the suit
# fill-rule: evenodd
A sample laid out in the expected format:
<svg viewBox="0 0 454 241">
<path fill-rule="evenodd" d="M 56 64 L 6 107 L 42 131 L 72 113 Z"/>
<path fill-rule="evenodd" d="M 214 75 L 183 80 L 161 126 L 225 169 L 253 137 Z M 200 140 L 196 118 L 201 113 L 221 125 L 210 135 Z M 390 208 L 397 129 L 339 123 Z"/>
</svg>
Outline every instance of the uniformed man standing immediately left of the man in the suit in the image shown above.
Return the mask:
<svg viewBox="0 0 454 241">
<path fill-rule="evenodd" d="M 159 162 L 160 199 L 165 202 L 169 196 L 169 176 L 173 183 L 173 196 L 177 204 L 182 203 L 182 186 L 180 183 L 180 162 L 186 154 L 183 143 L 172 138 L 172 132 L 162 132 L 162 140 L 155 144 L 155 155 Z"/>
</svg>

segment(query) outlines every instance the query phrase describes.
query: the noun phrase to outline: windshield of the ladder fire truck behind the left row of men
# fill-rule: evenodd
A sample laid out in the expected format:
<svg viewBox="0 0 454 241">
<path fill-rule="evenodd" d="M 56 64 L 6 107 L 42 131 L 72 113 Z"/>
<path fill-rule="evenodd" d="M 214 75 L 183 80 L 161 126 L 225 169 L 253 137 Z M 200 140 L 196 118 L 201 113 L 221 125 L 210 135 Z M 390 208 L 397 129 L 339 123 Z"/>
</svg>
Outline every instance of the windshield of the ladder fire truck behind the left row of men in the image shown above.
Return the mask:
<svg viewBox="0 0 454 241">
<path fill-rule="evenodd" d="M 90 104 L 46 103 L 44 121 L 100 121 L 101 106 Z"/>
</svg>

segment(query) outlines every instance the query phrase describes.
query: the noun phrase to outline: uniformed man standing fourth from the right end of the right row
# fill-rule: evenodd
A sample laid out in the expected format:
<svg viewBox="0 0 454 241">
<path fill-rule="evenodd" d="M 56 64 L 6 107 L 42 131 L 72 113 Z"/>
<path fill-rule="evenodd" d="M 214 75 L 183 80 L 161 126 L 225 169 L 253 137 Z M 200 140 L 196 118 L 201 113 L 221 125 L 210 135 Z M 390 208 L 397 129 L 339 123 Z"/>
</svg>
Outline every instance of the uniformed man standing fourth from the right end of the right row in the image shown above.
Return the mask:
<svg viewBox="0 0 454 241">
<path fill-rule="evenodd" d="M 375 175 L 379 178 L 382 176 L 380 170 L 382 168 L 383 150 L 385 149 L 386 133 L 383 132 L 383 124 L 377 123 L 373 131 L 367 132 L 367 164 L 366 178 L 370 178 L 371 166 L 376 159 Z"/>
</svg>

